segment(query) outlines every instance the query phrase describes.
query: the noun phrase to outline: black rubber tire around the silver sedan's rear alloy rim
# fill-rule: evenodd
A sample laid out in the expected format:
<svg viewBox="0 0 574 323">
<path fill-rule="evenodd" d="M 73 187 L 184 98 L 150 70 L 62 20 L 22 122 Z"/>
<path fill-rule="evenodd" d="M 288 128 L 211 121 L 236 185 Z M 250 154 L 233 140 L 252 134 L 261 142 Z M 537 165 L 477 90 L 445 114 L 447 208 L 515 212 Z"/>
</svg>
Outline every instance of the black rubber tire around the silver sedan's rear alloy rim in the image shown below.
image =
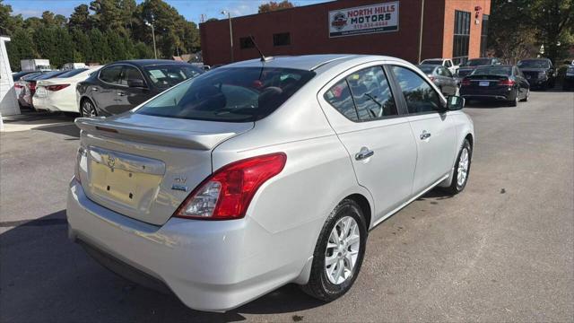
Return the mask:
<svg viewBox="0 0 574 323">
<path fill-rule="evenodd" d="M 357 223 L 360 232 L 360 247 L 355 265 L 352 268 L 351 276 L 341 284 L 332 284 L 326 276 L 326 245 L 335 224 L 345 216 L 351 216 Z M 300 286 L 303 292 L 306 292 L 310 296 L 321 301 L 335 301 L 337 298 L 343 296 L 345 292 L 349 291 L 361 271 L 368 234 L 367 224 L 365 222 L 365 217 L 362 214 L 361 207 L 352 199 L 344 199 L 335 207 L 335 210 L 329 214 L 326 219 L 326 223 L 319 234 L 317 245 L 315 246 L 315 252 L 313 253 L 313 264 L 311 266 L 309 282 Z"/>
</svg>

